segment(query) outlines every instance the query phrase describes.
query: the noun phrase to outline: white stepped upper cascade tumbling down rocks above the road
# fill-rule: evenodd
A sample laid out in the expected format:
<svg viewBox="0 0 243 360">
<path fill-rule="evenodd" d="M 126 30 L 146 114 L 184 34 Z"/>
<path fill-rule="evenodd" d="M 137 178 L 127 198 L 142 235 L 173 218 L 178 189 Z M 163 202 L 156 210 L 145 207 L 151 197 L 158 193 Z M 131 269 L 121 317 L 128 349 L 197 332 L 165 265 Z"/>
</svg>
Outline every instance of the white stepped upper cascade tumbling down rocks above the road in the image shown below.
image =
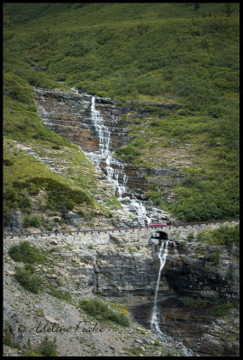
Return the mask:
<svg viewBox="0 0 243 360">
<path fill-rule="evenodd" d="M 98 133 L 99 136 L 99 146 L 100 146 L 100 161 L 105 159 L 107 178 L 110 182 L 115 184 L 118 194 L 118 200 L 122 202 L 123 194 L 128 193 L 127 191 L 127 182 L 128 178 L 124 172 L 124 166 L 118 161 L 116 158 L 111 156 L 111 132 L 107 126 L 104 125 L 103 116 L 101 112 L 95 110 L 95 97 L 92 96 L 92 104 L 91 104 L 91 117 L 94 123 L 94 129 Z M 97 163 L 97 157 L 91 157 L 94 163 Z M 98 160 L 99 161 L 99 160 Z M 129 205 L 122 204 L 123 208 L 127 211 L 134 211 L 139 223 L 142 226 L 145 226 L 145 220 L 147 221 L 147 225 L 150 224 L 150 219 L 147 216 L 147 211 L 142 202 L 131 194 L 131 198 L 127 199 L 129 201 Z"/>
</svg>

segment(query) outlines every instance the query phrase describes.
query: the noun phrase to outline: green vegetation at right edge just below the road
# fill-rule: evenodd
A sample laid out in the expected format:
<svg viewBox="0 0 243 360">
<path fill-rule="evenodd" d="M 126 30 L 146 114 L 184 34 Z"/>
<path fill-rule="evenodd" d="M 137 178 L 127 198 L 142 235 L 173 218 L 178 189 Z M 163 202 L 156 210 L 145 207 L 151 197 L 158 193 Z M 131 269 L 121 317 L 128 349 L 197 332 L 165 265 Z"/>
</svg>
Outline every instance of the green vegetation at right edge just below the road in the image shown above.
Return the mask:
<svg viewBox="0 0 243 360">
<path fill-rule="evenodd" d="M 211 245 L 228 245 L 239 243 L 239 225 L 220 226 L 219 229 L 202 230 L 197 234 L 197 241 Z"/>
</svg>

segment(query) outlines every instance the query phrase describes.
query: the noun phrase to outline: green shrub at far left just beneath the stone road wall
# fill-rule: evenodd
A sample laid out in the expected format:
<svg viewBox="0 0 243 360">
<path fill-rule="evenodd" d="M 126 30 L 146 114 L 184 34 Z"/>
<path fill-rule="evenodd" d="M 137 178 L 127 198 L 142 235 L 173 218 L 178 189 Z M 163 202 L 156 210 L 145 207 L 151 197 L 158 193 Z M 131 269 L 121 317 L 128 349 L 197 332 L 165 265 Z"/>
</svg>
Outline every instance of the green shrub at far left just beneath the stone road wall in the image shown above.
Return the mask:
<svg viewBox="0 0 243 360">
<path fill-rule="evenodd" d="M 31 246 L 28 241 L 23 241 L 20 245 L 10 247 L 8 254 L 14 261 L 23 261 L 29 264 L 42 264 L 46 260 L 46 256 L 40 252 L 38 247 Z"/>
</svg>

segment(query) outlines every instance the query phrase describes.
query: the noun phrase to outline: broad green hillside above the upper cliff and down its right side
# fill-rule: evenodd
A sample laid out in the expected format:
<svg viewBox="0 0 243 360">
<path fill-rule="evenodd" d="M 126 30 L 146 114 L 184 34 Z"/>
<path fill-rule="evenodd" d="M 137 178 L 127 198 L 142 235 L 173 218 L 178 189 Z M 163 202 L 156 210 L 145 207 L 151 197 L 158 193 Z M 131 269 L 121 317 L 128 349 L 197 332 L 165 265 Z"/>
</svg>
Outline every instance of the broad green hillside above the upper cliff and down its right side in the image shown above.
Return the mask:
<svg viewBox="0 0 243 360">
<path fill-rule="evenodd" d="M 179 157 L 189 143 L 190 176 L 171 190 L 176 202 L 151 181 L 153 200 L 184 220 L 238 214 L 237 3 L 4 4 L 8 138 L 64 141 L 31 121 L 30 85 L 53 88 L 58 78 L 121 101 L 179 103 L 176 111 L 150 106 L 117 155 L 170 166 L 167 154 Z M 10 111 L 24 114 L 21 123 Z"/>
</svg>

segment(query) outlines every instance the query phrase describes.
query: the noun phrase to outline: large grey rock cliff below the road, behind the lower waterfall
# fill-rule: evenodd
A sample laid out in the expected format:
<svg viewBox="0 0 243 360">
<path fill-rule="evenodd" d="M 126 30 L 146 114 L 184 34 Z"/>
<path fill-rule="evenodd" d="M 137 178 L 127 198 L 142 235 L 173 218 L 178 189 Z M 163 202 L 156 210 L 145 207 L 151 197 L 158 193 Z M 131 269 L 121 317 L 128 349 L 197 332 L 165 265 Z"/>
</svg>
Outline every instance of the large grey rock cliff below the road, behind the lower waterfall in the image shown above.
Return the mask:
<svg viewBox="0 0 243 360">
<path fill-rule="evenodd" d="M 208 247 L 195 240 L 173 239 L 172 233 L 170 237 L 157 297 L 161 330 L 196 354 L 238 354 L 238 311 L 231 309 L 223 320 L 213 312 L 221 300 L 238 302 L 238 247 Z M 5 243 L 4 251 L 19 241 L 14 238 Z M 130 230 L 126 235 L 115 231 L 30 241 L 56 248 L 52 251 L 54 266 L 40 269 L 47 285 L 59 289 L 59 280 L 59 290 L 72 296 L 99 293 L 126 303 L 134 319 L 150 328 L 163 238 Z M 215 252 L 217 263 L 212 261 Z"/>
</svg>

